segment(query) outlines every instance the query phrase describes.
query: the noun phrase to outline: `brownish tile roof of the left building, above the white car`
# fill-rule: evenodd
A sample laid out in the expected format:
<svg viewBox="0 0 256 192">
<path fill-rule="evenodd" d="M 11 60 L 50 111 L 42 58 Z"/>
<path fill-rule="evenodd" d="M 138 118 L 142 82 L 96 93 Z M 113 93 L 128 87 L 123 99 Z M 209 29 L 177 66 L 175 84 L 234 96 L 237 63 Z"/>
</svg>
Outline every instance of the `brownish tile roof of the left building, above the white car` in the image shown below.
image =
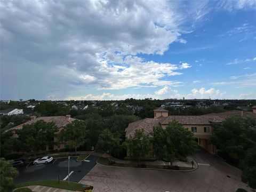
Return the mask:
<svg viewBox="0 0 256 192">
<path fill-rule="evenodd" d="M 76 120 L 75 118 L 66 118 L 65 116 L 45 116 L 45 117 L 37 117 L 35 119 L 32 119 L 26 123 L 22 123 L 20 125 L 17 125 L 15 127 L 12 127 L 11 130 L 17 130 L 17 129 L 22 129 L 23 125 L 30 125 L 32 123 L 35 123 L 39 120 L 44 120 L 45 122 L 54 122 L 58 128 L 63 127 L 71 122 L 73 122 L 74 120 Z M 7 130 L 7 131 L 9 131 Z"/>
</svg>

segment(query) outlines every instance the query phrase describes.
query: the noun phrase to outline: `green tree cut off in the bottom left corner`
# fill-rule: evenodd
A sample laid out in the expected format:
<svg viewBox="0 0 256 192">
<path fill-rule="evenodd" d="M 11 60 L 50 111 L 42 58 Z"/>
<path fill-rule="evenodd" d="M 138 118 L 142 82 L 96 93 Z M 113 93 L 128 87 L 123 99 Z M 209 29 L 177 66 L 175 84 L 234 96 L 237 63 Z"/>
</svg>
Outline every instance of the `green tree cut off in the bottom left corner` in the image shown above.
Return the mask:
<svg viewBox="0 0 256 192">
<path fill-rule="evenodd" d="M 19 172 L 10 161 L 0 158 L 0 191 L 10 192 L 15 187 L 13 178 L 17 177 Z"/>
</svg>

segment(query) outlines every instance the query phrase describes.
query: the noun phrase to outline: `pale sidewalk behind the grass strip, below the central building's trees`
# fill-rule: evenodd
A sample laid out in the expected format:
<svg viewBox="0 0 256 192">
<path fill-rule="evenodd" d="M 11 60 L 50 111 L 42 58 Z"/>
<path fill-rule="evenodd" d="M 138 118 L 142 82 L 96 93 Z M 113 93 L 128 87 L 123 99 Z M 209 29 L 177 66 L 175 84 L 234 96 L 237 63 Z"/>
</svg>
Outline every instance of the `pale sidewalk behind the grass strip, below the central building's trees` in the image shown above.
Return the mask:
<svg viewBox="0 0 256 192">
<path fill-rule="evenodd" d="M 107 154 L 108 155 L 108 154 Z M 107 155 L 103 154 L 102 157 L 107 157 Z M 124 164 L 138 164 L 138 161 L 126 161 L 126 160 L 122 160 L 122 159 L 118 159 L 115 157 L 111 157 L 112 161 L 115 161 L 116 163 L 124 163 Z M 193 159 L 191 156 L 188 156 L 188 161 L 187 162 L 182 162 L 179 160 L 175 160 L 172 162 L 173 166 L 181 166 L 181 167 L 191 167 L 191 161 L 194 162 L 194 168 L 197 168 L 197 163 L 195 161 L 195 159 Z M 145 165 L 170 165 L 169 162 L 165 162 L 165 161 L 161 161 L 161 160 L 157 160 L 157 161 L 141 161 L 141 164 L 145 164 Z"/>
</svg>

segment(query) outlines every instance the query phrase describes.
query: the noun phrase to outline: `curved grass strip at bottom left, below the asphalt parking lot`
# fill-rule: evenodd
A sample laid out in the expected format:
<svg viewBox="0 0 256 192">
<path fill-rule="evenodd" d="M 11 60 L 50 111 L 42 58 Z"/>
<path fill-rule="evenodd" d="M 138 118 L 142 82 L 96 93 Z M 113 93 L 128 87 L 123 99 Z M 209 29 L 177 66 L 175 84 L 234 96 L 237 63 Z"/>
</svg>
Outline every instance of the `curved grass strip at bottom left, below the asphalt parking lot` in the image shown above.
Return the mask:
<svg viewBox="0 0 256 192">
<path fill-rule="evenodd" d="M 85 189 L 83 185 L 80 183 L 69 181 L 69 185 L 68 185 L 68 181 L 62 181 L 62 180 L 60 180 L 60 183 L 58 182 L 58 180 L 31 181 L 31 182 L 17 184 L 15 187 L 20 188 L 20 187 L 26 187 L 26 186 L 32 186 L 32 185 L 54 187 L 54 188 L 74 190 L 74 191 L 76 190 L 83 191 Z"/>
</svg>

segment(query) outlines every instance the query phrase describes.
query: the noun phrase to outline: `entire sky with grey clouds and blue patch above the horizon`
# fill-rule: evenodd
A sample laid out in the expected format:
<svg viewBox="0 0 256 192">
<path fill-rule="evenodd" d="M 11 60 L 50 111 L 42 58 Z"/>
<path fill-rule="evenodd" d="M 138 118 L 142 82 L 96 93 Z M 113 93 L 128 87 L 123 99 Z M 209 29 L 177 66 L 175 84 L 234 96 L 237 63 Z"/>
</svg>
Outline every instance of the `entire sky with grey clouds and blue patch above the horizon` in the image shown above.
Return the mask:
<svg viewBox="0 0 256 192">
<path fill-rule="evenodd" d="M 0 99 L 256 99 L 256 0 L 0 1 Z"/>
</svg>

